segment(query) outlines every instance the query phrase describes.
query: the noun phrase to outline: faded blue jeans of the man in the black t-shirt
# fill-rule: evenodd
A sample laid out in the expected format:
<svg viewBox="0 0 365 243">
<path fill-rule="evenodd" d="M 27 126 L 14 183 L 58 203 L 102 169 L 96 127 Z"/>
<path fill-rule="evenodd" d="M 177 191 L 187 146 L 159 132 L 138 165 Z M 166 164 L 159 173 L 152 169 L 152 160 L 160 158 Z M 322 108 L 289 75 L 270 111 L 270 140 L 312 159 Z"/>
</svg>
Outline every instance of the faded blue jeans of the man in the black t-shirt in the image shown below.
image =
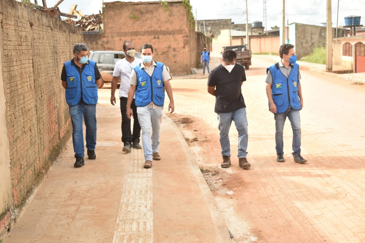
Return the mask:
<svg viewBox="0 0 365 243">
<path fill-rule="evenodd" d="M 219 128 L 219 142 L 222 148 L 223 156 L 231 156 L 231 148 L 229 142 L 229 130 L 231 123 L 234 121 L 238 131 L 238 158 L 246 158 L 247 143 L 249 135 L 247 133 L 247 117 L 246 108 L 238 109 L 237 111 L 218 113 L 218 128 Z"/>
</svg>

